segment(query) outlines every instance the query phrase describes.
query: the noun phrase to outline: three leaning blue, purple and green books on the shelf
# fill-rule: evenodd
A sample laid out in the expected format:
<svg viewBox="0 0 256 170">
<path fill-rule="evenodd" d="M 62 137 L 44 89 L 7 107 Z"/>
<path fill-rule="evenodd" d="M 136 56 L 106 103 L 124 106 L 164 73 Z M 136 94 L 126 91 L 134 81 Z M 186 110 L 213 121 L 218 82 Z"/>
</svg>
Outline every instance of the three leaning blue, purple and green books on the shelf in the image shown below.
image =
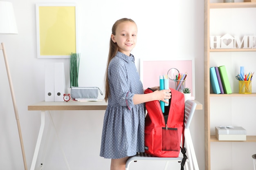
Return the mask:
<svg viewBox="0 0 256 170">
<path fill-rule="evenodd" d="M 225 66 L 210 68 L 210 82 L 215 94 L 230 94 L 231 86 Z"/>
</svg>

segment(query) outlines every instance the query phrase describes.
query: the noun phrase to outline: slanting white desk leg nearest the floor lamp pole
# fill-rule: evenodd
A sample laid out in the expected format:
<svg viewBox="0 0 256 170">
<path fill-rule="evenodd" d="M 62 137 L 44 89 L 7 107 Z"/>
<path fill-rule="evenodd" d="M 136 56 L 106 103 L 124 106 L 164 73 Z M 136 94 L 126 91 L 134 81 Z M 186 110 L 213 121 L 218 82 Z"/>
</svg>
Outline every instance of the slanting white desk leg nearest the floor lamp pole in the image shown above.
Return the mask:
<svg viewBox="0 0 256 170">
<path fill-rule="evenodd" d="M 36 148 L 35 148 L 35 152 L 34 152 L 34 156 L 33 156 L 33 159 L 32 159 L 30 170 L 35 169 L 36 160 L 37 160 L 37 157 L 38 157 L 38 152 L 39 152 L 40 144 L 41 144 L 41 141 L 42 141 L 44 128 L 45 128 L 45 111 L 41 111 L 41 126 L 40 126 L 40 129 L 39 129 L 39 133 L 38 133 L 38 137 L 37 137 L 37 141 L 36 141 Z"/>
</svg>

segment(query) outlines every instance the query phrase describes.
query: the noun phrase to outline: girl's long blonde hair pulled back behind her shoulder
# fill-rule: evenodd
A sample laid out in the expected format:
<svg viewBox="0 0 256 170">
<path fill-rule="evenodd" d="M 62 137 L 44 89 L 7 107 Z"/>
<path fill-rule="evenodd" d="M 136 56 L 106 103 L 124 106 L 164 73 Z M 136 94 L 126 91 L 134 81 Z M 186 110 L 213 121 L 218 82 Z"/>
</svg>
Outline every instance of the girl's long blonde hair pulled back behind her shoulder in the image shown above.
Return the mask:
<svg viewBox="0 0 256 170">
<path fill-rule="evenodd" d="M 121 22 L 126 22 L 126 21 L 130 21 L 130 22 L 135 23 L 132 19 L 121 18 L 121 19 L 117 20 L 115 22 L 115 24 L 112 26 L 112 34 L 116 35 L 117 26 Z M 109 63 L 112 60 L 112 58 L 115 57 L 115 55 L 117 54 L 117 51 L 118 51 L 117 43 L 113 42 L 111 37 L 110 37 L 108 62 L 107 62 L 106 75 L 105 75 L 105 98 L 104 99 L 105 99 L 106 102 L 108 101 L 108 97 L 110 95 L 110 89 L 109 89 L 109 84 L 108 84 L 108 66 L 109 66 Z"/>
</svg>

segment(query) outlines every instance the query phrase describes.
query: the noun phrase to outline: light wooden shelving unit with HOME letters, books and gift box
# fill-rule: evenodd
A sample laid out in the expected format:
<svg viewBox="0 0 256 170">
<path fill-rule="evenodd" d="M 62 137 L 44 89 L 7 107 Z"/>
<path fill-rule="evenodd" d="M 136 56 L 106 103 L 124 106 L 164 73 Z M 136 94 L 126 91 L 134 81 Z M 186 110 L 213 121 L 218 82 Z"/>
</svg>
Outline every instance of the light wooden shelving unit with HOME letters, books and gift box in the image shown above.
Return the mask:
<svg viewBox="0 0 256 170">
<path fill-rule="evenodd" d="M 211 103 L 211 100 L 222 99 L 223 97 L 230 101 L 232 101 L 233 98 L 236 98 L 234 100 L 237 100 L 237 98 L 245 99 L 244 97 L 256 97 L 256 93 L 252 94 L 239 94 L 238 91 L 234 91 L 234 87 L 232 89 L 232 92 L 234 91 L 235 93 L 231 94 L 213 94 L 211 93 L 211 88 L 210 88 L 210 67 L 211 65 L 211 54 L 214 54 L 213 56 L 218 55 L 218 53 L 221 53 L 221 55 L 228 55 L 229 57 L 233 53 L 254 53 L 255 52 L 255 59 L 254 61 L 256 62 L 256 49 L 211 49 L 210 48 L 210 11 L 214 9 L 238 9 L 238 8 L 255 8 L 256 10 L 256 2 L 236 2 L 235 3 L 212 3 L 214 0 L 204 0 L 204 124 L 205 124 L 205 170 L 211 170 L 211 160 L 215 159 L 214 157 L 211 157 L 211 144 L 229 144 L 232 145 L 234 142 L 240 142 L 241 144 L 243 142 L 256 142 L 256 134 L 253 135 L 248 135 L 246 141 L 218 141 L 218 139 L 215 136 L 215 133 L 213 133 L 213 123 L 216 124 L 216 122 L 212 122 L 211 118 L 211 106 L 214 104 Z M 219 1 L 219 0 L 217 0 Z M 255 20 L 255 15 L 252 16 L 252 22 Z M 254 29 L 256 29 L 254 27 Z M 228 33 L 228 32 L 227 32 Z M 246 32 L 241 32 L 241 34 L 246 34 Z M 223 34 L 224 35 L 224 34 Z M 232 54 L 231 54 L 232 53 Z M 232 56 L 231 56 L 232 57 Z M 218 60 L 218 59 L 217 59 Z M 225 64 L 223 64 L 225 65 Z M 256 71 L 256 70 L 255 70 Z M 231 75 L 235 75 L 236 73 L 232 73 Z M 255 78 L 256 79 L 256 78 Z M 254 82 L 253 82 L 254 83 Z M 235 83 L 234 83 L 235 84 Z M 238 83 L 237 83 L 238 84 Z M 231 87 L 232 88 L 232 87 Z M 254 92 L 254 91 L 253 91 Z M 220 97 L 220 98 L 219 98 Z M 231 97 L 231 98 L 229 98 Z M 233 101 L 232 101 L 233 102 Z M 232 103 L 230 102 L 230 103 Z M 229 103 L 229 104 L 230 104 Z M 212 106 L 212 107 L 213 107 Z M 215 104 L 216 106 L 216 104 Z M 232 115 L 232 114 L 230 114 Z M 256 123 L 256 121 L 255 121 Z M 254 124 L 255 124 L 254 123 Z M 254 125 L 252 124 L 252 126 Z M 219 145 L 218 145 L 219 146 Z M 231 147 L 232 148 L 232 147 Z M 218 148 L 217 148 L 218 149 Z M 223 151 L 222 151 L 223 152 Z M 220 155 L 221 155 L 221 150 L 220 150 Z"/>
</svg>

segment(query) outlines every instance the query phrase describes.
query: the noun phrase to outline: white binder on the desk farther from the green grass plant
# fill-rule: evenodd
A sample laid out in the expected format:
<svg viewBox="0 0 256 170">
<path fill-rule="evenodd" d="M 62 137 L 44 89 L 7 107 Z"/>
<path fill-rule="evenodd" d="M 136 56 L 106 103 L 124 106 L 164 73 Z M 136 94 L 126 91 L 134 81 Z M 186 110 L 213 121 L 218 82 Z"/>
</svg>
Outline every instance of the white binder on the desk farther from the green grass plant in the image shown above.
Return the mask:
<svg viewBox="0 0 256 170">
<path fill-rule="evenodd" d="M 45 64 L 45 102 L 54 102 L 54 63 Z"/>
</svg>

